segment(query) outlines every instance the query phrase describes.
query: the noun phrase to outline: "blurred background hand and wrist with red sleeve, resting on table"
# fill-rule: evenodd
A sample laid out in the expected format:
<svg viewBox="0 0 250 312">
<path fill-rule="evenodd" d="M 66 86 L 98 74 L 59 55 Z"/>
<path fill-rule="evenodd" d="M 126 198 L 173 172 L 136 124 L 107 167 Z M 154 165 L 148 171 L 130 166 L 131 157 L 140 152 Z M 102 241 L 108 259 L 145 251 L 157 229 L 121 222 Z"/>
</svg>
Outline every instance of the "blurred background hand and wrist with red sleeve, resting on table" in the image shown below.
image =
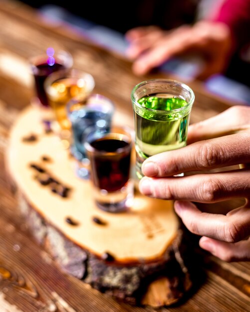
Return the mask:
<svg viewBox="0 0 250 312">
<path fill-rule="evenodd" d="M 225 72 L 234 55 L 244 53 L 250 46 L 250 0 L 221 2 L 213 14 L 193 25 L 184 24 L 172 30 L 158 26 L 128 30 L 126 55 L 133 60 L 134 73 L 144 75 L 183 55 L 202 58 L 204 66 L 196 78 L 206 79 Z M 250 61 L 250 56 L 247 57 Z"/>
</svg>

